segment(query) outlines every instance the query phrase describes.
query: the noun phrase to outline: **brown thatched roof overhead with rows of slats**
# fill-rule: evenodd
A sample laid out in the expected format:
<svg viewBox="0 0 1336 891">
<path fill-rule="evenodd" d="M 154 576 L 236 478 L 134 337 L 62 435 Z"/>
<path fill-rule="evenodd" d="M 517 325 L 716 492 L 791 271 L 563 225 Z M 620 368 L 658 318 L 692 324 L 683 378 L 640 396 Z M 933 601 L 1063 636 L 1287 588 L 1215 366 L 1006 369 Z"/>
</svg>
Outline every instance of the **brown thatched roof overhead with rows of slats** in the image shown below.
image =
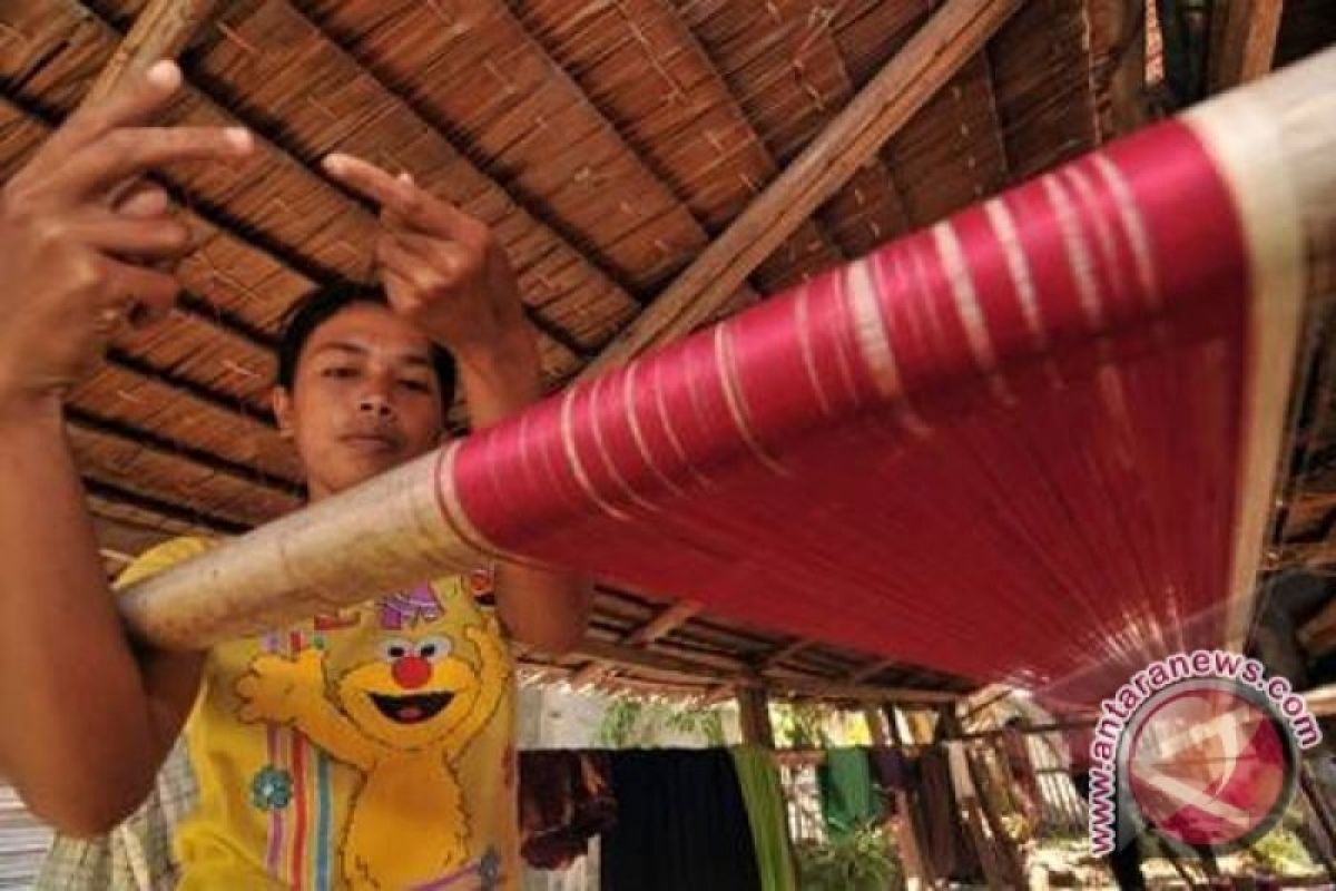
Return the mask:
<svg viewBox="0 0 1336 891">
<path fill-rule="evenodd" d="M 0 178 L 80 102 L 143 5 L 0 4 Z M 556 390 L 651 311 L 939 5 L 220 3 L 183 55 L 190 87 L 170 118 L 243 123 L 262 150 L 235 168 L 171 171 L 198 243 L 180 269 L 186 293 L 168 322 L 122 335 L 71 401 L 69 437 L 112 562 L 166 534 L 234 533 L 298 506 L 298 465 L 267 407 L 274 339 L 298 298 L 366 281 L 374 226 L 322 175 L 323 154 L 406 168 L 494 227 Z M 1327 15 L 1320 3 L 1289 5 Z M 1148 107 L 1142 11 L 1021 4 L 708 315 L 1137 126 Z M 466 429 L 462 405 L 452 422 Z M 852 699 L 874 685 L 971 688 L 689 610 L 656 625 L 665 609 L 604 590 L 595 643 L 552 671 L 600 656 L 631 683 L 696 689 L 739 677 L 812 695 L 839 683 Z"/>
</svg>

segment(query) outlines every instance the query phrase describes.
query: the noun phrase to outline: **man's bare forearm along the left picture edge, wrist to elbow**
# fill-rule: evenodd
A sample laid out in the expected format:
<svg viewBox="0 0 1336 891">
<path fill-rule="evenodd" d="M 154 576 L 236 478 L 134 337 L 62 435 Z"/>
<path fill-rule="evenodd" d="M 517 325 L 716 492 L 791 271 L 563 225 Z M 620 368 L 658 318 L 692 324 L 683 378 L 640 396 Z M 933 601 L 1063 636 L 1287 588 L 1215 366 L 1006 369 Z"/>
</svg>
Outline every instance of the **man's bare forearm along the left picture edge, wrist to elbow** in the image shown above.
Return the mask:
<svg viewBox="0 0 1336 891">
<path fill-rule="evenodd" d="M 61 830 L 108 828 L 156 764 L 55 397 L 0 398 L 0 769 Z"/>
</svg>

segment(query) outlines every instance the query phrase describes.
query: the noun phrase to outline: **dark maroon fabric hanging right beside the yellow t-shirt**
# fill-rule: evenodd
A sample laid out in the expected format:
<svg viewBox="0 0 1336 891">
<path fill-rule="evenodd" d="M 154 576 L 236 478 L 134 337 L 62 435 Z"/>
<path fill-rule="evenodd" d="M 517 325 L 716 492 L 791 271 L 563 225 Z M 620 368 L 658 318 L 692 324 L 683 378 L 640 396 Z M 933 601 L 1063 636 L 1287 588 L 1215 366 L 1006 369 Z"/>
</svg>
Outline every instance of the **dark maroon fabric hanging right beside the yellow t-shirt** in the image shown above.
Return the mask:
<svg viewBox="0 0 1336 891">
<path fill-rule="evenodd" d="M 564 870 L 617 822 L 605 752 L 520 753 L 520 852 L 536 870 Z"/>
</svg>

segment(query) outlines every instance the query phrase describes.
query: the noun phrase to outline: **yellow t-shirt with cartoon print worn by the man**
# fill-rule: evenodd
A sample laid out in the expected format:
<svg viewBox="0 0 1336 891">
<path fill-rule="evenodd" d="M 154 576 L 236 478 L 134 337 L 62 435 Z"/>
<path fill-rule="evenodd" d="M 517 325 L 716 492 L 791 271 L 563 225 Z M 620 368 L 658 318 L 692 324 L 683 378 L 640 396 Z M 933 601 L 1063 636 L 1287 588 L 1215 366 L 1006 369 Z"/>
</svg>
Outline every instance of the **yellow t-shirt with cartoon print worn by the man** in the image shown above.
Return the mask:
<svg viewBox="0 0 1336 891">
<path fill-rule="evenodd" d="M 130 584 L 210 548 L 176 538 Z M 182 888 L 518 887 L 514 671 L 480 577 L 208 653 Z"/>
</svg>

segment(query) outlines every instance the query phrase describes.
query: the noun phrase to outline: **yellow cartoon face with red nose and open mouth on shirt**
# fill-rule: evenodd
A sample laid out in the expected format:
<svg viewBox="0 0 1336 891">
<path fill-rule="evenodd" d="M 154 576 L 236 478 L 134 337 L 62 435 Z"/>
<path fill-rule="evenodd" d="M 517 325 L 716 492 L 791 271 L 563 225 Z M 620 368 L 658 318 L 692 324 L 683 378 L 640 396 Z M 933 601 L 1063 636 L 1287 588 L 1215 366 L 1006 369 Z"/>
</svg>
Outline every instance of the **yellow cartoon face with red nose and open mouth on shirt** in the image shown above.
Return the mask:
<svg viewBox="0 0 1336 891">
<path fill-rule="evenodd" d="M 461 721 L 481 692 L 477 672 L 452 651 L 441 636 L 381 641 L 378 659 L 339 679 L 339 704 L 386 745 L 426 745 Z"/>
</svg>

